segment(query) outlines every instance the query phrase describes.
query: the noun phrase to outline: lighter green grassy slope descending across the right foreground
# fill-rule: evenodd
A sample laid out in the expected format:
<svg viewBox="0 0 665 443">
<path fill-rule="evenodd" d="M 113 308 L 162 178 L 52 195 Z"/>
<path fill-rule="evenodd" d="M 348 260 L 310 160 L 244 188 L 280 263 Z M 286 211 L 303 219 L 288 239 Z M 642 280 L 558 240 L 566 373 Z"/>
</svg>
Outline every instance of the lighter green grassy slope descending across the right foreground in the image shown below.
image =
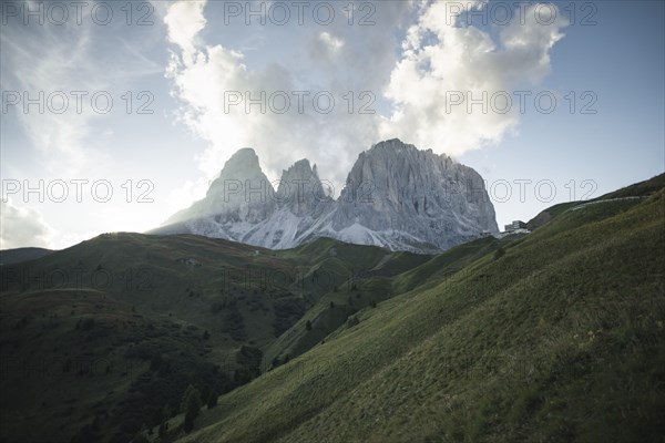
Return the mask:
<svg viewBox="0 0 665 443">
<path fill-rule="evenodd" d="M 395 277 L 403 293 L 181 441 L 662 442 L 665 190 L 557 212 L 500 246 L 447 278 L 430 261 Z"/>
</svg>

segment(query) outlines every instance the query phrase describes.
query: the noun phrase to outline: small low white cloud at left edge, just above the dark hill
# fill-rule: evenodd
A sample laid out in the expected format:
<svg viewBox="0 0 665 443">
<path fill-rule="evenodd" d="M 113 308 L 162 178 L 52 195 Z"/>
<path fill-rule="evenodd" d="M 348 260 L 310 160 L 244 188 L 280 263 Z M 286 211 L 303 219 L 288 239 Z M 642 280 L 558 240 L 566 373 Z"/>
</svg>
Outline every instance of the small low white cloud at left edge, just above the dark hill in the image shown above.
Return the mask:
<svg viewBox="0 0 665 443">
<path fill-rule="evenodd" d="M 9 198 L 0 200 L 0 249 L 52 248 L 54 235 L 39 210 L 14 206 Z"/>
</svg>

